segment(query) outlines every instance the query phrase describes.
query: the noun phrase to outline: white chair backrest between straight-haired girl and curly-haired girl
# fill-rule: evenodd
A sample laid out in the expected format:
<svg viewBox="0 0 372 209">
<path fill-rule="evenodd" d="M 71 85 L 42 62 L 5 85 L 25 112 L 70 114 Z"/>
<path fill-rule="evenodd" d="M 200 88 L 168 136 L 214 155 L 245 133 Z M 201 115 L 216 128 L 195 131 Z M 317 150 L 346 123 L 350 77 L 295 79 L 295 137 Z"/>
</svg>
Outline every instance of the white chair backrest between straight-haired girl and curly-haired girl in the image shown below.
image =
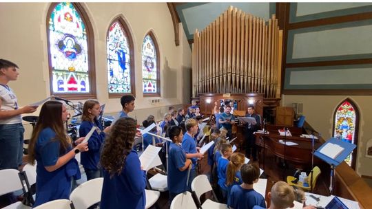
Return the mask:
<svg viewBox="0 0 372 209">
<path fill-rule="evenodd" d="M 101 201 L 103 178 L 96 178 L 85 181 L 76 187 L 70 195 L 70 200 L 74 203 L 75 209 L 86 209 Z"/>
</svg>

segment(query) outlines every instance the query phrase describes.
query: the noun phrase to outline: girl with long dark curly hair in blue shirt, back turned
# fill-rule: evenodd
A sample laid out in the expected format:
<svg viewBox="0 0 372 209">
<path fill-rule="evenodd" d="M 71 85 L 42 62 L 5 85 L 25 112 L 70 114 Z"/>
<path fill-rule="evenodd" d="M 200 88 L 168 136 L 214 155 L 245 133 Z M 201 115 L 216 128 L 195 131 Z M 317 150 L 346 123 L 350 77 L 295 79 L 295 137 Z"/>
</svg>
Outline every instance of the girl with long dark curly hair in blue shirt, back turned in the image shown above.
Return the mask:
<svg viewBox="0 0 372 209">
<path fill-rule="evenodd" d="M 107 134 L 101 153 L 101 209 L 145 208 L 146 171 L 133 150 L 136 120 L 120 118 Z"/>
</svg>

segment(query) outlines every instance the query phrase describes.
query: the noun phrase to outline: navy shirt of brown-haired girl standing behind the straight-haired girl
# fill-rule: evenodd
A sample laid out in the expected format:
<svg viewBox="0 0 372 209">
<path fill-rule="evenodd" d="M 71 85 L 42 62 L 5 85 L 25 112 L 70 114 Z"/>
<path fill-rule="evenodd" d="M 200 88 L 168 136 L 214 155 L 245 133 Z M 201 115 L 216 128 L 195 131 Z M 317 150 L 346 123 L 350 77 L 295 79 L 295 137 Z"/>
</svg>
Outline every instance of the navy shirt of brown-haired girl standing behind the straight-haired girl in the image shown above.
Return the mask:
<svg viewBox="0 0 372 209">
<path fill-rule="evenodd" d="M 84 120 L 81 122 L 79 135 L 81 137 L 86 136 L 90 129 L 96 126 L 98 130 L 94 131 L 90 139 L 88 140 L 89 150 L 81 153 L 81 164 L 85 169 L 88 170 L 99 170 L 99 156 L 103 142 L 105 141 L 105 132 L 98 120 L 94 122 Z"/>
</svg>

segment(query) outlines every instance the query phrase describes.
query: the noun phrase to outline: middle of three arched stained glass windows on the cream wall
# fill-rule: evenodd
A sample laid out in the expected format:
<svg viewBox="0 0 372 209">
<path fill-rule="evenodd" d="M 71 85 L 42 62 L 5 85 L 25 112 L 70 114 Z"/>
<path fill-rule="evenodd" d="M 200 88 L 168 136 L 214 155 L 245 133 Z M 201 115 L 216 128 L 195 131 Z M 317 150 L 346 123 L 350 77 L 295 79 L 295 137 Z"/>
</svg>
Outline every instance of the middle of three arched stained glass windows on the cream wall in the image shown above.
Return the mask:
<svg viewBox="0 0 372 209">
<path fill-rule="evenodd" d="M 133 41 L 127 34 L 125 22 L 118 18 L 107 32 L 107 72 L 110 98 L 135 94 Z"/>
</svg>

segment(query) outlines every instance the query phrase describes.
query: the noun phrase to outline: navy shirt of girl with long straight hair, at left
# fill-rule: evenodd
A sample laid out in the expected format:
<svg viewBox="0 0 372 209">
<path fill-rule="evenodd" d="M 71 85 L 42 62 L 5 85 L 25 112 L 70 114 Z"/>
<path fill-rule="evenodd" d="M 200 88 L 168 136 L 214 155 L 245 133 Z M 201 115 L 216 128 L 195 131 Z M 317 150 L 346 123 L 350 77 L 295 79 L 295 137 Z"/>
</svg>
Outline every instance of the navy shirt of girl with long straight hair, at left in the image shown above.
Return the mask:
<svg viewBox="0 0 372 209">
<path fill-rule="evenodd" d="M 59 140 L 56 133 L 50 129 L 43 129 L 37 137 L 35 144 L 35 158 L 37 160 L 37 185 L 36 199 L 33 207 L 39 206 L 55 199 L 69 199 L 71 189 L 71 177 L 81 177 L 79 165 L 75 158 L 70 159 L 67 164 L 52 172 L 45 166 L 54 166 L 59 157 L 68 153 L 72 147 L 69 146 L 65 152 L 60 151 Z"/>
</svg>

